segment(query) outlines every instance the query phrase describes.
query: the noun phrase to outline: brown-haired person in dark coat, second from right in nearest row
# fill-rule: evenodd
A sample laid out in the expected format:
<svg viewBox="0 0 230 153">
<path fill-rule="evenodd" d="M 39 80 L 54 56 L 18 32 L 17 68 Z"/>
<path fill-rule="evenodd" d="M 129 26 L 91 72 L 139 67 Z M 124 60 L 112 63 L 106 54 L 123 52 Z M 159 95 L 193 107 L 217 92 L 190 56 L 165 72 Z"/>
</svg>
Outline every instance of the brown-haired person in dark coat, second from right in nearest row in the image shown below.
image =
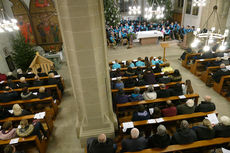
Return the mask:
<svg viewBox="0 0 230 153">
<path fill-rule="evenodd" d="M 198 140 L 207 140 L 215 137 L 215 131 L 208 119 L 203 120 L 203 125 L 194 127 Z"/>
</svg>

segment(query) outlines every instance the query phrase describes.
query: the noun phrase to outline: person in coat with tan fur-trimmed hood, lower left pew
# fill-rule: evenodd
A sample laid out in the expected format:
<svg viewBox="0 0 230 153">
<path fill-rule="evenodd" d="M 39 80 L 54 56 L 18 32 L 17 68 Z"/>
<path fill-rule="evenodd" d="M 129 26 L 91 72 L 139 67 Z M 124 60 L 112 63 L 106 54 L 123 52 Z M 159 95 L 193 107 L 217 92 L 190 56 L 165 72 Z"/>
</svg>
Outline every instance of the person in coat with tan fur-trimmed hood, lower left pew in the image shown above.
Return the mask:
<svg viewBox="0 0 230 153">
<path fill-rule="evenodd" d="M 38 121 L 34 122 L 33 124 L 29 124 L 28 120 L 21 120 L 20 121 L 20 128 L 17 128 L 16 132 L 19 137 L 28 137 L 37 135 L 38 138 L 47 139 L 46 131 L 44 130 L 43 125 Z"/>
</svg>

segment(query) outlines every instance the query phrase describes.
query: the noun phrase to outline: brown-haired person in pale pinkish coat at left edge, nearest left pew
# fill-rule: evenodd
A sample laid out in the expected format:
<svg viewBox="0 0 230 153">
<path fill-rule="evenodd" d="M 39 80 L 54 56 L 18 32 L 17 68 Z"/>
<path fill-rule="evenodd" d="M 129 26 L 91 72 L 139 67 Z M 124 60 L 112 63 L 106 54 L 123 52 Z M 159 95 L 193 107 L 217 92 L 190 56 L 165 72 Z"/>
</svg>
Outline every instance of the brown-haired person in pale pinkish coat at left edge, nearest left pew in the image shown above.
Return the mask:
<svg viewBox="0 0 230 153">
<path fill-rule="evenodd" d="M 16 128 L 13 128 L 11 121 L 3 123 L 2 130 L 0 131 L 0 140 L 9 140 L 16 136 Z"/>
</svg>

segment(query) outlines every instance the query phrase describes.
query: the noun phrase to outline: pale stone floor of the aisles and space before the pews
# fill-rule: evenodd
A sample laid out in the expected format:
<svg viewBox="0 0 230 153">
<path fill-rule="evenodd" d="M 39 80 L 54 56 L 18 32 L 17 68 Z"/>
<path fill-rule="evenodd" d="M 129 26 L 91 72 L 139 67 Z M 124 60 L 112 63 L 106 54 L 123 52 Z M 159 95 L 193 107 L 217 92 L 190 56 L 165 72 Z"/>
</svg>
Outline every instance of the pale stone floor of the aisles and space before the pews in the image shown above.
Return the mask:
<svg viewBox="0 0 230 153">
<path fill-rule="evenodd" d="M 181 62 L 178 57 L 182 54 L 181 50 L 176 42 L 170 42 L 170 48 L 166 50 L 166 57 L 171 66 L 175 69 L 179 69 L 183 80 L 190 79 L 193 84 L 193 88 L 196 93 L 200 95 L 200 100 L 203 96 L 212 96 L 212 101 L 217 106 L 217 111 L 221 115 L 230 116 L 230 102 L 225 98 L 217 94 L 212 88 L 207 87 L 199 78 L 192 75 L 188 70 L 181 66 Z M 163 49 L 160 45 L 140 46 L 134 44 L 134 47 L 127 49 L 126 47 L 118 47 L 116 49 L 108 50 L 108 60 L 113 61 L 115 59 L 128 60 L 136 59 L 137 57 L 145 56 L 163 56 Z M 76 123 L 76 109 L 77 106 L 72 96 L 72 87 L 69 81 L 67 66 L 63 64 L 59 73 L 65 79 L 65 94 L 61 105 L 59 106 L 59 113 L 54 122 L 54 131 L 49 141 L 47 153 L 83 153 L 84 150 L 80 146 L 80 141 L 77 138 L 75 123 Z"/>
</svg>

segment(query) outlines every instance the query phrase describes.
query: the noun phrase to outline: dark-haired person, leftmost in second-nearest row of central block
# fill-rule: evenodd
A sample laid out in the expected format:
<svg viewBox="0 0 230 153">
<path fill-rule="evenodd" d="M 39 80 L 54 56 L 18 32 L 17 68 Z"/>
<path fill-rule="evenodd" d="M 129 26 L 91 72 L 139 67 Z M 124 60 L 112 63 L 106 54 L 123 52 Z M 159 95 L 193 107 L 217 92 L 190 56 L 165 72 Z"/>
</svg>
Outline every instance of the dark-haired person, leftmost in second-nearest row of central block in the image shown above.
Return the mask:
<svg viewBox="0 0 230 153">
<path fill-rule="evenodd" d="M 142 121 L 148 120 L 150 118 L 150 114 L 146 111 L 144 105 L 138 106 L 138 111 L 133 113 L 132 121 Z"/>
</svg>

